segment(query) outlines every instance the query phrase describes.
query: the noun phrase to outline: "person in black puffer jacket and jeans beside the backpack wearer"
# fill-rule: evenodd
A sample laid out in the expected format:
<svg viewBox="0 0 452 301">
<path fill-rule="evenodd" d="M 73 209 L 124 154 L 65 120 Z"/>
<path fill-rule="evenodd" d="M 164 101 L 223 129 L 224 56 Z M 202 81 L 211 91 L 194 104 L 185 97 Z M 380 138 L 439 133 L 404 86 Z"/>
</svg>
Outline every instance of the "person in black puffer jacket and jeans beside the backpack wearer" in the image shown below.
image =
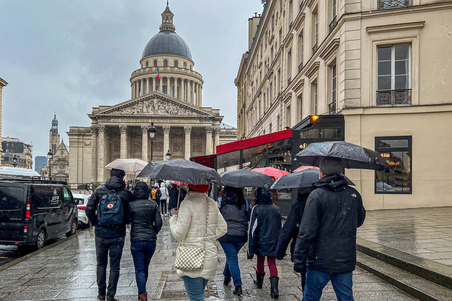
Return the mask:
<svg viewBox="0 0 452 301">
<path fill-rule="evenodd" d="M 135 279 L 140 301 L 148 300 L 146 282 L 152 255 L 154 255 L 157 234 L 162 228 L 159 206 L 149 201 L 149 188 L 144 182 L 135 185 L 135 200 L 129 203 L 129 216 L 132 223 L 130 232 L 130 251 L 134 258 Z"/>
</svg>

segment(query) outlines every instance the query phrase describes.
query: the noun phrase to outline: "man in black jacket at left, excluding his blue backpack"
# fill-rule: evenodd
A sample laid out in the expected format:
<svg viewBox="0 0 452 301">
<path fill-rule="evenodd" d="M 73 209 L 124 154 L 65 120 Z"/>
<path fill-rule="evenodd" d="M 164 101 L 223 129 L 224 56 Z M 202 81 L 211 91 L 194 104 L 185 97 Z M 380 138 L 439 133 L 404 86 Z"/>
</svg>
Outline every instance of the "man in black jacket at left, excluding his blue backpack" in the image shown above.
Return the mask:
<svg viewBox="0 0 452 301">
<path fill-rule="evenodd" d="M 123 255 L 124 239 L 126 236 L 126 221 L 128 216 L 129 201 L 133 199 L 133 194 L 126 188 L 123 170 L 112 169 L 110 178 L 105 185 L 99 186 L 92 193 L 86 204 L 86 216 L 92 225 L 95 225 L 95 245 L 97 259 L 97 301 L 116 301 L 116 287 L 120 275 L 120 262 Z M 102 196 L 108 191 L 114 190 L 121 199 L 124 218 L 121 225 L 101 226 L 97 222 L 97 205 Z M 108 254 L 109 253 L 109 254 Z M 106 291 L 106 265 L 110 257 L 110 276 L 108 278 L 108 292 Z"/>
</svg>

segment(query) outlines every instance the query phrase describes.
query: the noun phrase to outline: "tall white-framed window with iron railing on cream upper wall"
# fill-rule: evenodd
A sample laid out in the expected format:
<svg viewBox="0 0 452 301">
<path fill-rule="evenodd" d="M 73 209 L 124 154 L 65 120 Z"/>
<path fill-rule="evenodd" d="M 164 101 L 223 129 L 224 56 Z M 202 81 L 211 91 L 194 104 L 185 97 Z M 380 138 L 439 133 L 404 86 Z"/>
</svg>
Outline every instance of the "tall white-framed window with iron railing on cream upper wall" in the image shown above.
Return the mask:
<svg viewBox="0 0 452 301">
<path fill-rule="evenodd" d="M 377 49 L 377 105 L 411 104 L 411 47 Z"/>
</svg>

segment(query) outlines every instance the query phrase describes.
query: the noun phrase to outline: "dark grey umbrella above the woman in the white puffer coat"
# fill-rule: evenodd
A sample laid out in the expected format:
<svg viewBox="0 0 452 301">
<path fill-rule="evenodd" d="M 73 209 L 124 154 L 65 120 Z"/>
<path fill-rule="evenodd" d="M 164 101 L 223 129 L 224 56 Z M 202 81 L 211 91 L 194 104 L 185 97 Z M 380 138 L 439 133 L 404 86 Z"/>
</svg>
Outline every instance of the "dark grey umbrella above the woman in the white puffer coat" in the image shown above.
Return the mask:
<svg viewBox="0 0 452 301">
<path fill-rule="evenodd" d="M 224 185 L 220 176 L 214 169 L 185 159 L 150 162 L 138 177 L 173 179 L 175 181 L 193 185 L 210 183 Z"/>
</svg>

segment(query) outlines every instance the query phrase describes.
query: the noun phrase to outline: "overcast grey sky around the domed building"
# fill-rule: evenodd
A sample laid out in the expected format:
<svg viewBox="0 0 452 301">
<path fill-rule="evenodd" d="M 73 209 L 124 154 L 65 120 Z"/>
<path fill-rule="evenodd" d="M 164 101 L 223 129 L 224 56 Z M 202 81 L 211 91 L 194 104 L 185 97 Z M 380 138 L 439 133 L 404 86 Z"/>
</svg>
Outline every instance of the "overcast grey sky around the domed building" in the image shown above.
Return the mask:
<svg viewBox="0 0 452 301">
<path fill-rule="evenodd" d="M 260 0 L 171 0 L 176 33 L 203 79 L 203 106 L 237 126 L 237 75 L 248 49 L 248 18 Z M 69 126 L 89 126 L 99 105 L 130 98 L 130 75 L 159 31 L 166 0 L 2 1 L 2 136 L 49 151 L 53 114 L 68 145 Z M 34 159 L 34 158 L 33 158 Z"/>
</svg>

